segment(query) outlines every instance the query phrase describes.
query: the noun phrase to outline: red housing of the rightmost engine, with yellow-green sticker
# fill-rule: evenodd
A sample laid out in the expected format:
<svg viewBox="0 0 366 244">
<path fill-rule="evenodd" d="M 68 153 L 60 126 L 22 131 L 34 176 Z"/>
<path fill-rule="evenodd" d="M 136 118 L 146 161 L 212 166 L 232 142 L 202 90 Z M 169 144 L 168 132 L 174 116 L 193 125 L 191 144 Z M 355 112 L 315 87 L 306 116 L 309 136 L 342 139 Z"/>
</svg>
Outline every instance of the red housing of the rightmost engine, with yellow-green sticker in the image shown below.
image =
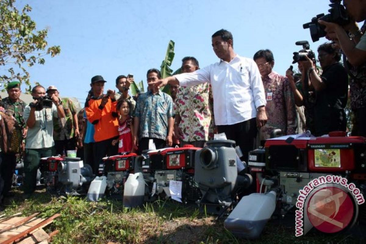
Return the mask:
<svg viewBox="0 0 366 244">
<path fill-rule="evenodd" d="M 266 168 L 299 172 L 354 171 L 363 165 L 361 161 L 365 161 L 365 154 L 362 152 L 365 149 L 366 138 L 361 136 L 330 134 L 327 137 L 294 139 L 291 142 L 271 139 L 265 143 Z"/>
</svg>

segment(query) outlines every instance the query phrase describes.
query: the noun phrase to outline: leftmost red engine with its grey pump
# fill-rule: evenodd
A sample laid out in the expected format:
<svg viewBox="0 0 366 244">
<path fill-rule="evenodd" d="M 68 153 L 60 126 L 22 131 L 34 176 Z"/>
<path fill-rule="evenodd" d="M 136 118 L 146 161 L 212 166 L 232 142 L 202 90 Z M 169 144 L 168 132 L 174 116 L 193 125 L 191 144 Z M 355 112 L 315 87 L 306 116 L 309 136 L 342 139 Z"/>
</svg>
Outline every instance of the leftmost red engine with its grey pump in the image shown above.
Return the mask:
<svg viewBox="0 0 366 244">
<path fill-rule="evenodd" d="M 47 191 L 55 194 L 84 195 L 93 180 L 93 170 L 80 158 L 42 158 L 40 171 Z"/>
</svg>

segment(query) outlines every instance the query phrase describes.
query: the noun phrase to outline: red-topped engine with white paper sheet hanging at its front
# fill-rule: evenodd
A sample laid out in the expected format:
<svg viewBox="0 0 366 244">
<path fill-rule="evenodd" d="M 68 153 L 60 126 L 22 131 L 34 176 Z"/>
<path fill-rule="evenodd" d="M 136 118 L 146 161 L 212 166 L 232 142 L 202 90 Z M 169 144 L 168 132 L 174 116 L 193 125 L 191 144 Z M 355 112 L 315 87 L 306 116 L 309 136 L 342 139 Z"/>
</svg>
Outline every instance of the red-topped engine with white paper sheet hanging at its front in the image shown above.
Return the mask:
<svg viewBox="0 0 366 244">
<path fill-rule="evenodd" d="M 200 148 L 184 147 L 153 150 L 138 158 L 138 164 L 148 184 L 149 200 L 157 196 L 170 196 L 169 182 L 182 182 L 182 202 L 194 203 L 201 198 L 201 191 L 194 181 L 195 153 Z"/>
</svg>

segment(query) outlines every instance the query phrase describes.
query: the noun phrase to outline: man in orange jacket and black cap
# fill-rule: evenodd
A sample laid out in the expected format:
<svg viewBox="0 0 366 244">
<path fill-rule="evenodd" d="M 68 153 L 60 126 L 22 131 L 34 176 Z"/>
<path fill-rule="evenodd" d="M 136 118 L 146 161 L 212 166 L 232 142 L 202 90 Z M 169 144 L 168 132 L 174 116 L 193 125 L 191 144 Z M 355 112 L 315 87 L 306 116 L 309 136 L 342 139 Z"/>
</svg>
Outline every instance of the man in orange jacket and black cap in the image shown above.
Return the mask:
<svg viewBox="0 0 366 244">
<path fill-rule="evenodd" d="M 101 75 L 91 78 L 93 97 L 85 103 L 86 117 L 95 129 L 93 145 L 95 174 L 102 173 L 98 172 L 98 168 L 102 164 L 103 157 L 116 155 L 118 152 L 118 144 L 112 146 L 112 140 L 118 138 L 115 91 L 108 90 L 106 95 L 103 94 L 105 82 Z"/>
</svg>

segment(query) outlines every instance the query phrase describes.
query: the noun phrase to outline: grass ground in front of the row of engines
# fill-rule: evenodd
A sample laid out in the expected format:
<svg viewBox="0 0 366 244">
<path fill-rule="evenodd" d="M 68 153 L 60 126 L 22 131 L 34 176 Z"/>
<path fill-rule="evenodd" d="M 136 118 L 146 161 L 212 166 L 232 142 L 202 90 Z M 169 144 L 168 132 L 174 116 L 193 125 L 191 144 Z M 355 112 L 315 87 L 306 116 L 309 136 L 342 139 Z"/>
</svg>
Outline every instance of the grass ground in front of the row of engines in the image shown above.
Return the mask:
<svg viewBox="0 0 366 244">
<path fill-rule="evenodd" d="M 293 216 L 271 220 L 260 239 L 237 239 L 224 229 L 223 220 L 200 213 L 196 206 L 158 200 L 132 210 L 123 208 L 121 201 L 102 199 L 87 202 L 83 198 L 51 196 L 45 190 L 36 191 L 24 199 L 21 191 L 6 199 L 1 214 L 41 212 L 42 217 L 55 213 L 61 216 L 49 225 L 49 232 L 59 230 L 52 243 L 366 243 L 361 238 L 365 229 L 351 233 L 325 235 L 312 231 L 295 237 Z M 362 232 L 362 233 L 360 233 Z"/>
</svg>

